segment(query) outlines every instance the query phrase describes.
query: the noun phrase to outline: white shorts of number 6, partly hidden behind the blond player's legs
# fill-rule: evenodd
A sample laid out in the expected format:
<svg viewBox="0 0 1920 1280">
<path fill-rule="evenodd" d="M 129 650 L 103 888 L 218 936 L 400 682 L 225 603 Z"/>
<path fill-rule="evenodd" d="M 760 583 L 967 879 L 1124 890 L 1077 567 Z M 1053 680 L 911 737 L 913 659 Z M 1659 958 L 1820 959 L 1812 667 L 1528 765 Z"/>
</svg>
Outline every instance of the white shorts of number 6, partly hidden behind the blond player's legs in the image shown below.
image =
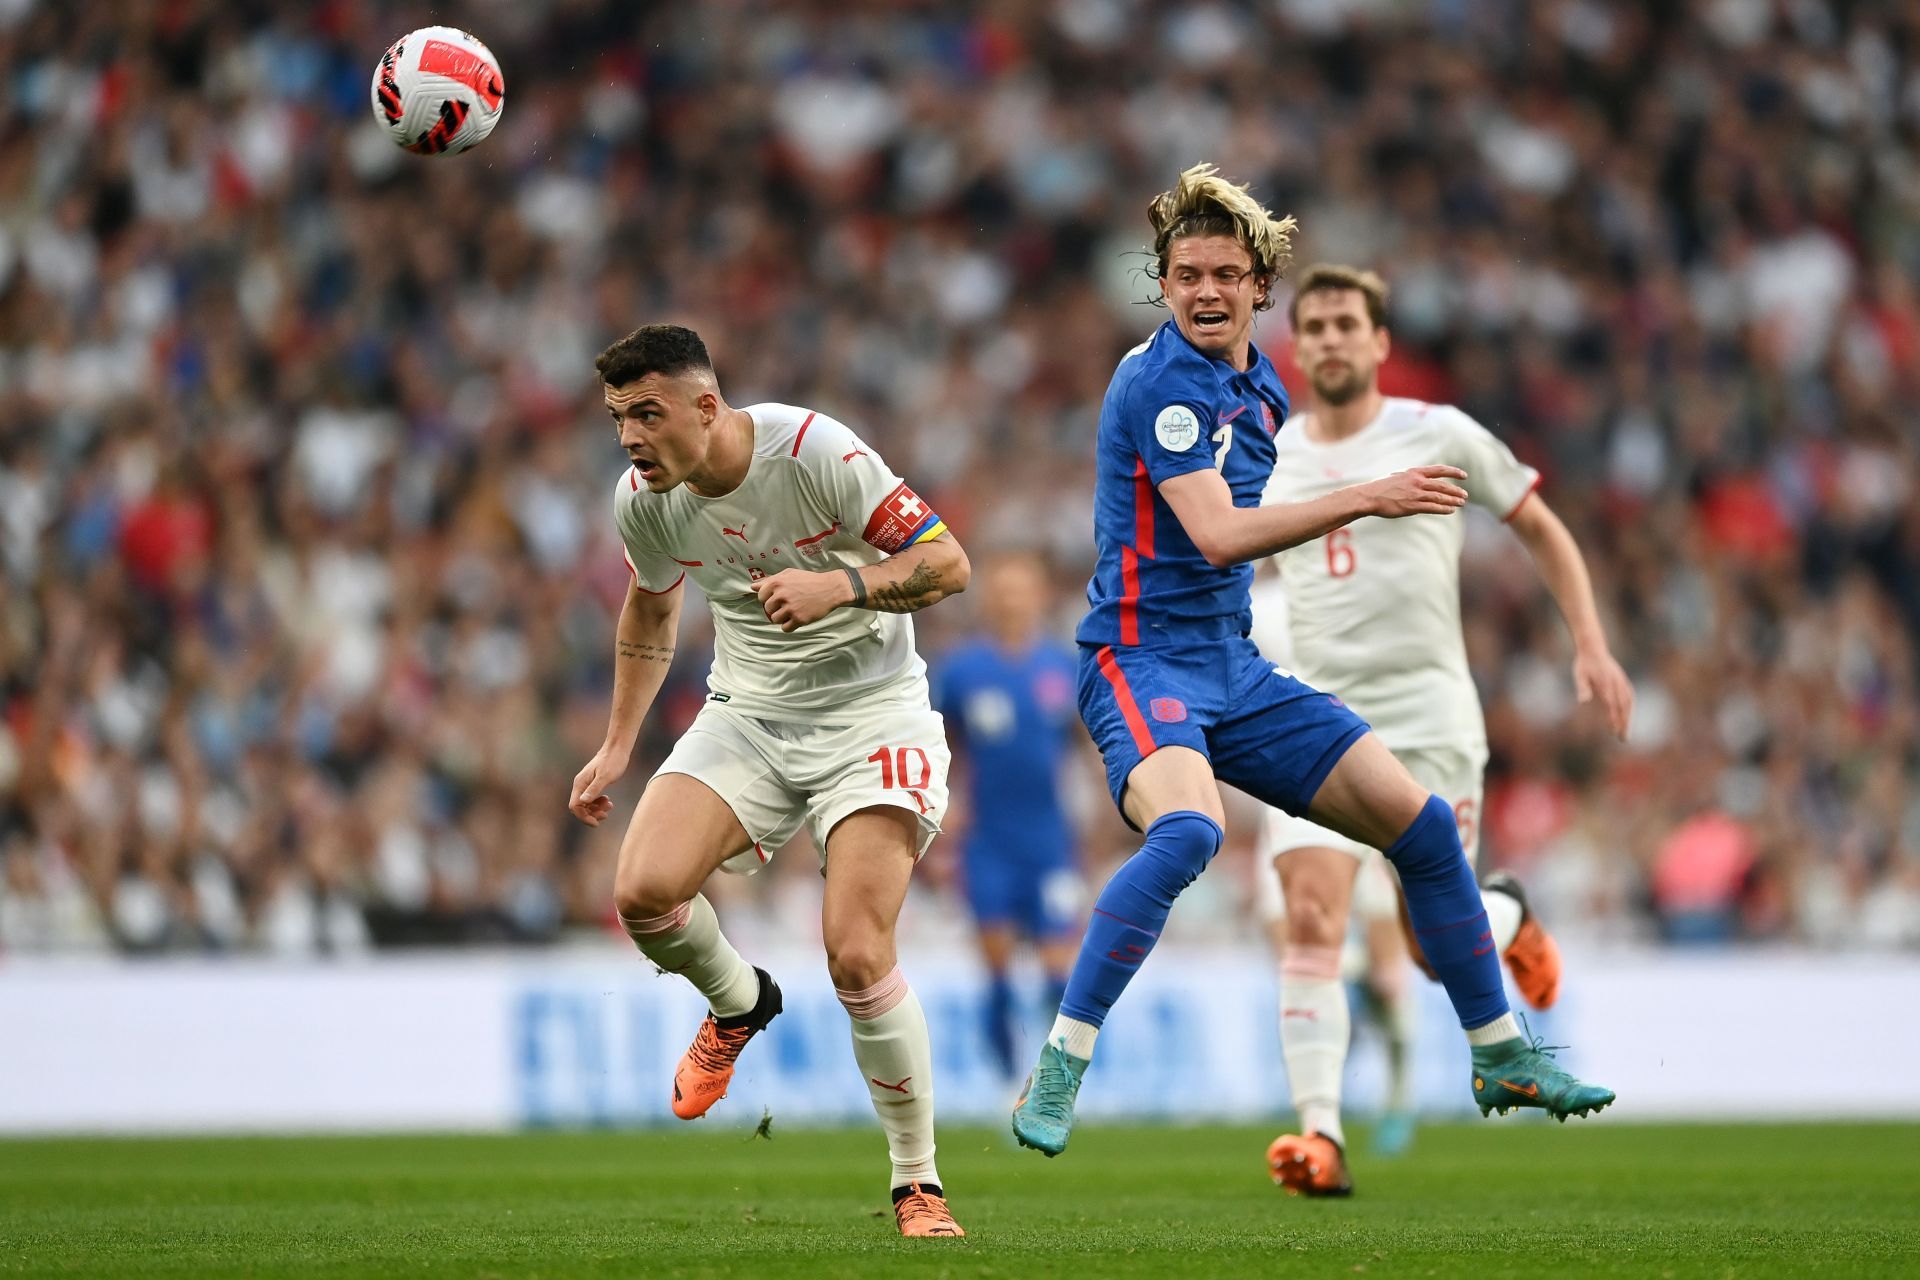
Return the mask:
<svg viewBox="0 0 1920 1280">
<path fill-rule="evenodd" d="M 1467 862 L 1478 864 L 1486 750 L 1478 747 L 1413 747 L 1396 750 L 1394 756 L 1407 766 L 1413 781 L 1453 806 L 1453 821 L 1459 827 L 1459 842 L 1467 850 Z M 1352 854 L 1359 860 L 1359 875 L 1354 881 L 1354 913 L 1363 919 L 1386 919 L 1400 913 L 1400 889 L 1384 854 L 1377 848 L 1277 808 L 1265 812 L 1256 848 L 1260 856 L 1254 860 L 1254 906 L 1263 921 L 1286 915 L 1281 873 L 1273 869 L 1273 860 L 1294 848 L 1338 848 Z"/>
</svg>

